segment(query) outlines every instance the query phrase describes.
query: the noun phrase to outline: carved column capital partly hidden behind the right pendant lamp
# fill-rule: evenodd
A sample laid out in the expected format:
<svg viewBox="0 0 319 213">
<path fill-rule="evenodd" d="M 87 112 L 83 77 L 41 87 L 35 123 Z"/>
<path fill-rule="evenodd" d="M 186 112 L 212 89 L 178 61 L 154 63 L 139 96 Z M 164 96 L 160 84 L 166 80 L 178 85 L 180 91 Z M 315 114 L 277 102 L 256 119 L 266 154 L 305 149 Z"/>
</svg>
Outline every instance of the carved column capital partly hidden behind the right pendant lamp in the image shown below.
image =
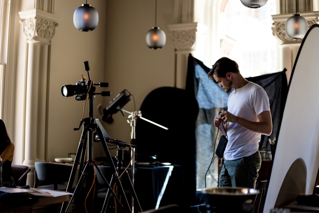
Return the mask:
<svg viewBox="0 0 319 213">
<path fill-rule="evenodd" d="M 312 25 L 318 23 L 319 11 L 303 12 L 298 14 L 300 14 L 307 20 L 308 27 L 311 27 Z M 281 44 L 298 44 L 298 43 L 301 43 L 302 41 L 302 39 L 299 39 L 299 40 L 291 39 L 286 35 L 286 31 L 285 31 L 286 20 L 291 16 L 292 14 L 279 14 L 279 15 L 271 16 L 272 20 L 274 21 L 271 27 L 272 34 L 279 40 Z"/>
</svg>

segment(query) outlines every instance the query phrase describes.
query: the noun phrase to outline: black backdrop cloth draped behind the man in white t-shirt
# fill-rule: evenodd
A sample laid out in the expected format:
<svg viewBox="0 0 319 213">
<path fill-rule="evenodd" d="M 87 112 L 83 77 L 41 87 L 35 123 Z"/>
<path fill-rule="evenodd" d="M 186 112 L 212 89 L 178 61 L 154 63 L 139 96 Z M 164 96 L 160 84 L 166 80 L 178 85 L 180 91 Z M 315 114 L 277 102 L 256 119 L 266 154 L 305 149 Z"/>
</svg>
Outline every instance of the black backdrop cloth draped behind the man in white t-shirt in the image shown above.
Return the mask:
<svg viewBox="0 0 319 213">
<path fill-rule="evenodd" d="M 210 68 L 203 62 L 189 55 L 186 90 L 194 95 L 199 106 L 196 120 L 196 187 L 205 187 L 205 173 L 210 165 L 215 150 L 215 140 L 219 141 L 217 128 L 213 125 L 213 118 L 218 111 L 227 110 L 228 94 L 217 83 L 209 80 L 207 73 Z M 256 77 L 246 78 L 262 86 L 269 96 L 273 131 L 270 136 L 262 135 L 259 148 L 271 150 L 269 140 L 277 137 L 279 121 L 282 118 L 287 96 L 286 69 Z M 276 141 L 275 141 L 276 142 Z M 215 156 L 214 156 L 215 157 Z M 206 187 L 218 185 L 218 161 L 214 161 L 206 177 Z"/>
</svg>

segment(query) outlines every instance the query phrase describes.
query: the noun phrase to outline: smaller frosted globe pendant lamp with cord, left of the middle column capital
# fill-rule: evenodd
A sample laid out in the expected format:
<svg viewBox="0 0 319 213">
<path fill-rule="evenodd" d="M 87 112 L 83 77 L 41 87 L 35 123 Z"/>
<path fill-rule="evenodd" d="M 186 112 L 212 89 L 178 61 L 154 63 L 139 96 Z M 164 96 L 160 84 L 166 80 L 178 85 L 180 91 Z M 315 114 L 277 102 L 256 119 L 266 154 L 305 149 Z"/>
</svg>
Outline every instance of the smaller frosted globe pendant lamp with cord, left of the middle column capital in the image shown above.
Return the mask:
<svg viewBox="0 0 319 213">
<path fill-rule="evenodd" d="M 156 27 L 156 6 L 157 0 L 155 0 L 155 27 L 152 27 L 146 33 L 146 45 L 151 49 L 161 49 L 166 43 L 166 34 L 163 30 Z"/>
</svg>

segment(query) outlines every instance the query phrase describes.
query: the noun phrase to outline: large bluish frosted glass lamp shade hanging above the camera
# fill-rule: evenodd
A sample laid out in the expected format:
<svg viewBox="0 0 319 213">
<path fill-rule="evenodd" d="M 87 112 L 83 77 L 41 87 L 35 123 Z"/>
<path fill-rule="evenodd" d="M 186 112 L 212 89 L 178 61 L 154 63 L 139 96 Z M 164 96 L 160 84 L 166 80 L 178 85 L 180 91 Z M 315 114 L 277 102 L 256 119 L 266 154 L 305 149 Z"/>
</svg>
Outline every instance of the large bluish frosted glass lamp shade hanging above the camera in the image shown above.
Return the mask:
<svg viewBox="0 0 319 213">
<path fill-rule="evenodd" d="M 90 4 L 82 4 L 73 14 L 73 24 L 80 31 L 94 30 L 99 23 L 99 13 Z"/>
</svg>

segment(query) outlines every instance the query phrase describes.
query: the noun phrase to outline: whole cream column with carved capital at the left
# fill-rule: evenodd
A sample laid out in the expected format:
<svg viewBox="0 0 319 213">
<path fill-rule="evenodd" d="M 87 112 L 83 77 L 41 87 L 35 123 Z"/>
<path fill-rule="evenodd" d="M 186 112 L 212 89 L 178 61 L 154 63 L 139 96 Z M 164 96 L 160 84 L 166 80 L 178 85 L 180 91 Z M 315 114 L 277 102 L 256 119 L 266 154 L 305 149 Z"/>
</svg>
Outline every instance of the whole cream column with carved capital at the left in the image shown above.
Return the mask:
<svg viewBox="0 0 319 213">
<path fill-rule="evenodd" d="M 19 12 L 27 37 L 25 159 L 27 184 L 33 186 L 34 162 L 45 160 L 48 46 L 58 26 L 58 17 L 41 10 Z"/>
</svg>

